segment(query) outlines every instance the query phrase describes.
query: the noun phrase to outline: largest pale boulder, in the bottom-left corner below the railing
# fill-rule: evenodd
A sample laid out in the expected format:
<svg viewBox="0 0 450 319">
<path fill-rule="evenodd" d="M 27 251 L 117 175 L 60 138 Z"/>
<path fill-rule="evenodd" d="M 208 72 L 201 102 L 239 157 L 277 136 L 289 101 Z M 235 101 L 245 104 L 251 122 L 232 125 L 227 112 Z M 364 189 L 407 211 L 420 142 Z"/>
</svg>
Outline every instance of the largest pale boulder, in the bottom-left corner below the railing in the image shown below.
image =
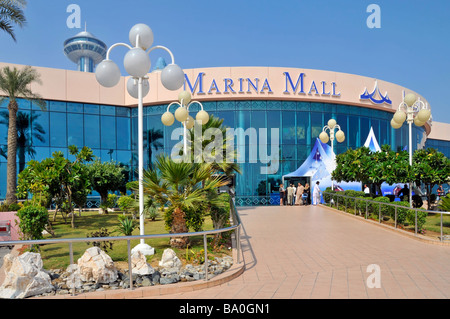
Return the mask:
<svg viewBox="0 0 450 319">
<path fill-rule="evenodd" d="M 26 252 L 4 260 L 6 278 L 0 287 L 0 298 L 22 299 L 54 290 L 50 276 L 42 269 L 40 254 Z"/>
</svg>

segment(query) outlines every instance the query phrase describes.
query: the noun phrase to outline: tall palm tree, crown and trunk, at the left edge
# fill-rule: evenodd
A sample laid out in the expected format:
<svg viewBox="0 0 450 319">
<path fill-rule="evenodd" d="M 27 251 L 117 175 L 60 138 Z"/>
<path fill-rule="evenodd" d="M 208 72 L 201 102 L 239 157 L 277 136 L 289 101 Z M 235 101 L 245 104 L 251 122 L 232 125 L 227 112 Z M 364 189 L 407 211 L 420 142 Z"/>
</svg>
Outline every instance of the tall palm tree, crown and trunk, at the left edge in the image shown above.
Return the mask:
<svg viewBox="0 0 450 319">
<path fill-rule="evenodd" d="M 45 110 L 46 103 L 41 96 L 33 93 L 30 89 L 31 83 L 41 83 L 39 73 L 31 66 L 23 69 L 16 67 L 10 68 L 6 66 L 0 69 L 0 91 L 9 98 L 8 111 L 8 162 L 6 177 L 6 198 L 7 204 L 15 203 L 16 198 L 16 181 L 17 181 L 17 98 L 21 97 L 29 101 L 33 101 L 42 110 Z M 3 101 L 4 97 L 0 98 Z M 0 101 L 0 102 L 1 102 Z"/>
</svg>

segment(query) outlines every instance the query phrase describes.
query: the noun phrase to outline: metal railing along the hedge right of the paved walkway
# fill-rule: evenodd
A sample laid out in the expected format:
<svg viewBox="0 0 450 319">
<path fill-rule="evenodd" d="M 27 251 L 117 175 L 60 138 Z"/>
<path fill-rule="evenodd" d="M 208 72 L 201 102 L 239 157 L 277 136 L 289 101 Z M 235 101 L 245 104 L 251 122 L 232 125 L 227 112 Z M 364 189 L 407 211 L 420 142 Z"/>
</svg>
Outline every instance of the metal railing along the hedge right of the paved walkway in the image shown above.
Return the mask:
<svg viewBox="0 0 450 319">
<path fill-rule="evenodd" d="M 329 197 L 329 201 L 327 203 L 327 201 L 325 200 L 325 198 Z M 341 205 L 344 205 L 344 211 L 347 212 L 347 199 L 351 199 L 352 201 L 354 201 L 354 214 L 356 215 L 356 207 L 358 206 L 357 203 L 358 201 L 363 201 L 366 203 L 366 211 L 365 211 L 365 219 L 368 218 L 368 208 L 369 208 L 369 203 L 374 203 L 376 205 L 378 205 L 378 221 L 379 223 L 381 223 L 382 220 L 382 214 L 381 214 L 381 206 L 382 205 L 386 205 L 389 207 L 393 207 L 394 208 L 394 227 L 397 228 L 397 216 L 398 216 L 398 209 L 403 209 L 403 210 L 410 210 L 410 211 L 414 211 L 414 215 L 415 215 L 415 222 L 414 222 L 414 235 L 417 236 L 418 233 L 418 229 L 417 229 L 417 212 L 425 212 L 427 214 L 440 214 L 441 215 L 441 220 L 440 220 L 440 233 L 441 236 L 439 237 L 439 240 L 442 242 L 443 238 L 444 238 L 444 234 L 443 234 L 443 216 L 444 215 L 450 215 L 450 212 L 442 212 L 442 211 L 436 211 L 436 210 L 425 210 L 422 208 L 412 208 L 412 207 L 406 207 L 406 206 L 402 206 L 402 205 L 397 205 L 397 204 L 392 204 L 392 203 L 384 203 L 384 202 L 379 202 L 379 201 L 374 201 L 372 199 L 366 199 L 366 198 L 360 198 L 360 197 L 353 197 L 353 196 L 348 196 L 348 195 L 342 195 L 339 193 L 330 193 L 330 192 L 323 192 L 323 198 L 326 204 L 331 205 L 335 205 L 335 207 L 339 210 L 339 198 L 341 198 Z M 334 199 L 336 199 L 336 201 L 334 201 Z"/>
</svg>

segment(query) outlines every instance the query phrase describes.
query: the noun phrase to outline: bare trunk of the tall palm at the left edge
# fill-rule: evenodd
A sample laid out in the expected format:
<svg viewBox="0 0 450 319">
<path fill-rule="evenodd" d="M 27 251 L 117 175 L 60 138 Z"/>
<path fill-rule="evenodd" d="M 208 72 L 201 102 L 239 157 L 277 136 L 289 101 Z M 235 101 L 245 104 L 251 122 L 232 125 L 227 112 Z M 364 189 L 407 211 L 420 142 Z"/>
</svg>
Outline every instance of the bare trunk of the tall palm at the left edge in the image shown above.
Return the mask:
<svg viewBox="0 0 450 319">
<path fill-rule="evenodd" d="M 9 124 L 8 124 L 8 164 L 6 172 L 6 204 L 17 202 L 17 110 L 18 105 L 15 100 L 8 104 Z"/>
</svg>

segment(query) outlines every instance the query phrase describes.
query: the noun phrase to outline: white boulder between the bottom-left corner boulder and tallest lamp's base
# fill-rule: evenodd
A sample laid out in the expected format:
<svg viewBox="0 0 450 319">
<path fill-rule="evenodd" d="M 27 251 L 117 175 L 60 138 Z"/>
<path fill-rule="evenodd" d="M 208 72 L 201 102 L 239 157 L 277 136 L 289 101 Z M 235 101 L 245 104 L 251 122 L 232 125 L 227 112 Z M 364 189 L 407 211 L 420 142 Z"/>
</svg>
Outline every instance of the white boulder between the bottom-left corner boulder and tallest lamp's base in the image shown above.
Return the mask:
<svg viewBox="0 0 450 319">
<path fill-rule="evenodd" d="M 78 259 L 78 268 L 82 281 L 110 283 L 117 280 L 114 262 L 98 247 L 91 247 Z"/>
</svg>

